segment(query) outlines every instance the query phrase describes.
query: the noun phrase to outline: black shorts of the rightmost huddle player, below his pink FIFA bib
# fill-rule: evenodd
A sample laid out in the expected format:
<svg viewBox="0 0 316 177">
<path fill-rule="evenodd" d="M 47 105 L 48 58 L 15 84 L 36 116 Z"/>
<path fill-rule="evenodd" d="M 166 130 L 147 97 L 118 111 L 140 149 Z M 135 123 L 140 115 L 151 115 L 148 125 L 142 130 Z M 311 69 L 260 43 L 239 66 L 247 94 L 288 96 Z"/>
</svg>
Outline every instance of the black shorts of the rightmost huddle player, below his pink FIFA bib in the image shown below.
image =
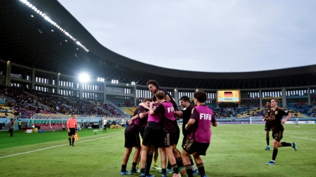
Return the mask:
<svg viewBox="0 0 316 177">
<path fill-rule="evenodd" d="M 187 139 L 184 145 L 182 145 L 183 150 L 189 154 L 197 153 L 199 155 L 206 155 L 206 150 L 209 148 L 210 143 L 199 143 L 193 138 Z"/>
</svg>

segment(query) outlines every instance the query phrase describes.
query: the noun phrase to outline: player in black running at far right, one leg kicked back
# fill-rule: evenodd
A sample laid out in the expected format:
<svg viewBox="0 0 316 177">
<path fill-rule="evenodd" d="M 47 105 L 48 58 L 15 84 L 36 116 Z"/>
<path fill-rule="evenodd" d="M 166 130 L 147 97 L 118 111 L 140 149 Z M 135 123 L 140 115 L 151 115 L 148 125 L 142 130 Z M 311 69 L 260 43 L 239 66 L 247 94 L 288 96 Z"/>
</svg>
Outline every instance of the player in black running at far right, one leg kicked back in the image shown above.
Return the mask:
<svg viewBox="0 0 316 177">
<path fill-rule="evenodd" d="M 273 153 L 272 160 L 267 165 L 274 165 L 275 158 L 278 154 L 279 147 L 292 147 L 297 151 L 296 143 L 286 143 L 280 142 L 283 138 L 283 125 L 286 121 L 292 117 L 292 114 L 285 110 L 283 107 L 278 107 L 279 101 L 277 99 L 271 100 L 271 109 L 270 109 L 270 118 L 264 118 L 264 120 L 271 121 L 272 125 L 272 136 L 273 136 Z M 285 119 L 282 119 L 283 116 L 286 116 Z"/>
</svg>

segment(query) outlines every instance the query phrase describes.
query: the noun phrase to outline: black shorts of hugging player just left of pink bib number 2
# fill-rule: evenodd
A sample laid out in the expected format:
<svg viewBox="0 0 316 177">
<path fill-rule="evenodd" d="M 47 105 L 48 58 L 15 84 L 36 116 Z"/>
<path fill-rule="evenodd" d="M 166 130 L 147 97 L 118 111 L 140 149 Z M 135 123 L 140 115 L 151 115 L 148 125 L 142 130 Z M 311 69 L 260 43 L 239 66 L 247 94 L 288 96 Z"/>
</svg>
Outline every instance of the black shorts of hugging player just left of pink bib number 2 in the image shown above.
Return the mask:
<svg viewBox="0 0 316 177">
<path fill-rule="evenodd" d="M 164 141 L 164 131 L 163 130 L 155 130 L 150 129 L 148 127 L 145 128 L 145 133 L 143 137 L 143 145 L 150 146 L 154 145 L 157 147 L 163 147 Z"/>
</svg>

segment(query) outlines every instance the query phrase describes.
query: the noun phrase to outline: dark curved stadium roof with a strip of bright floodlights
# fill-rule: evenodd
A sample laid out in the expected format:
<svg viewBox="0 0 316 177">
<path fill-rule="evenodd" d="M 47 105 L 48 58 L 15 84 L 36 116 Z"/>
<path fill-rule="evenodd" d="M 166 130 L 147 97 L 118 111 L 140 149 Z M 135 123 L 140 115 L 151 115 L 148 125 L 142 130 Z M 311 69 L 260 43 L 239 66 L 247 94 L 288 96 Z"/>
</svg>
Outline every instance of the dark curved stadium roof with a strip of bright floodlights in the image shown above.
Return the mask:
<svg viewBox="0 0 316 177">
<path fill-rule="evenodd" d="M 28 1 L 75 41 L 22 1 L 1 0 L 0 59 L 69 75 L 87 71 L 95 78 L 116 79 L 125 83 L 134 81 L 139 85 L 146 85 L 149 79 L 154 79 L 159 85 L 171 88 L 316 86 L 316 65 L 258 72 L 207 73 L 138 62 L 101 45 L 57 0 Z M 76 42 L 80 42 L 81 46 Z"/>
</svg>

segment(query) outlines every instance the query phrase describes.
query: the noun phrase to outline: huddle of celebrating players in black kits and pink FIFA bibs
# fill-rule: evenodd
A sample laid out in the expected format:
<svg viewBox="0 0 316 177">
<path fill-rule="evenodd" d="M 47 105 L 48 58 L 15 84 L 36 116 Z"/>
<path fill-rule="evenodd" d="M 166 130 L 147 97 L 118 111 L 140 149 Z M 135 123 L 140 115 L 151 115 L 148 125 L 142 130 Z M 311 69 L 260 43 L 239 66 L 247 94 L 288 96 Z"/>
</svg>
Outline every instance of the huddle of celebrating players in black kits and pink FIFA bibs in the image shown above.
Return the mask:
<svg viewBox="0 0 316 177">
<path fill-rule="evenodd" d="M 120 175 L 140 172 L 139 177 L 154 177 L 149 173 L 150 166 L 155 149 L 159 149 L 162 177 L 167 177 L 166 174 L 172 173 L 172 170 L 172 177 L 181 177 L 184 173 L 187 173 L 188 177 L 197 174 L 207 177 L 200 155 L 206 155 L 211 142 L 211 125 L 217 126 L 217 122 L 211 108 L 204 104 L 207 100 L 206 92 L 197 90 L 194 93 L 196 106 L 190 105 L 189 97 L 181 97 L 182 109 L 178 110 L 171 95 L 165 89 L 159 88 L 156 81 L 149 80 L 147 86 L 152 93 L 152 99 L 145 98 L 143 103 L 140 103 L 125 129 L 124 147 L 126 150 Z M 176 148 L 180 138 L 180 128 L 176 117 L 183 119 L 182 153 Z M 142 142 L 140 142 L 139 134 Z M 127 171 L 127 162 L 133 148 L 135 148 L 135 153 L 132 168 Z M 140 171 L 136 168 L 138 159 L 140 159 Z"/>
</svg>

